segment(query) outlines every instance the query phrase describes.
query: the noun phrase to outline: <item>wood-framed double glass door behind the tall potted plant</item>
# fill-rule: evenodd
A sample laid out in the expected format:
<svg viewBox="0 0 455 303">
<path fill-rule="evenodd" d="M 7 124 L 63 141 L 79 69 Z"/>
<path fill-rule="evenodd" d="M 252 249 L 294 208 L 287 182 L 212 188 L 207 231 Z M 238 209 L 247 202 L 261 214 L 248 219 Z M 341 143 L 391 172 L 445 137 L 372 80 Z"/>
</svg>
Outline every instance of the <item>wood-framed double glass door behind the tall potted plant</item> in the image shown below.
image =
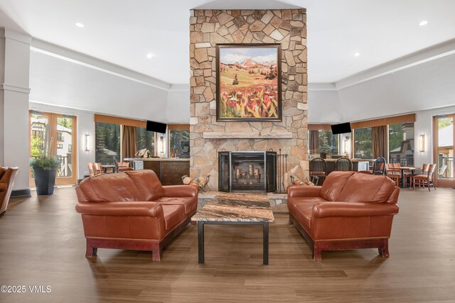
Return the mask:
<svg viewBox="0 0 455 303">
<path fill-rule="evenodd" d="M 56 185 L 76 184 L 77 135 L 76 117 L 30 111 L 30 158 L 50 153 L 57 158 Z M 30 187 L 35 187 L 33 170 L 30 170 Z"/>
</svg>

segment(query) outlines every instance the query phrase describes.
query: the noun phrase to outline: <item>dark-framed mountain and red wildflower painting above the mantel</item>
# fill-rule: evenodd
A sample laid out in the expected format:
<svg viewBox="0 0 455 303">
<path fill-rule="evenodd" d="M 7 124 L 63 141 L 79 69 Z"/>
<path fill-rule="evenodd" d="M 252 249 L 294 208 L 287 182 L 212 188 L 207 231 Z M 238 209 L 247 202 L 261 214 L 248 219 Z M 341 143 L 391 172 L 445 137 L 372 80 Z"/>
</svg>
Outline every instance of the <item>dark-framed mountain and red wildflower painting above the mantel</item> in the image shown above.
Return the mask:
<svg viewBox="0 0 455 303">
<path fill-rule="evenodd" d="M 216 45 L 217 121 L 282 121 L 281 45 Z"/>
</svg>

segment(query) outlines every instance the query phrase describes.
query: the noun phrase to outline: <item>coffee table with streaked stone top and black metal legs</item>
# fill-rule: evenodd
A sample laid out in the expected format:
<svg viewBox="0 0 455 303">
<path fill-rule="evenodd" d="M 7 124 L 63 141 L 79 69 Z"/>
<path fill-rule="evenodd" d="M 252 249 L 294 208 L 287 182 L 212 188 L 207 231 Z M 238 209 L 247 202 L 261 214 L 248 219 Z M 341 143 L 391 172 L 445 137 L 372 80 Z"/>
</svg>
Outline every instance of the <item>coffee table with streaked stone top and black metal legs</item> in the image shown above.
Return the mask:
<svg viewBox="0 0 455 303">
<path fill-rule="evenodd" d="M 269 264 L 269 222 L 274 221 L 267 194 L 217 194 L 192 218 L 198 224 L 198 257 L 204 263 L 205 224 L 262 225 L 263 263 Z"/>
</svg>

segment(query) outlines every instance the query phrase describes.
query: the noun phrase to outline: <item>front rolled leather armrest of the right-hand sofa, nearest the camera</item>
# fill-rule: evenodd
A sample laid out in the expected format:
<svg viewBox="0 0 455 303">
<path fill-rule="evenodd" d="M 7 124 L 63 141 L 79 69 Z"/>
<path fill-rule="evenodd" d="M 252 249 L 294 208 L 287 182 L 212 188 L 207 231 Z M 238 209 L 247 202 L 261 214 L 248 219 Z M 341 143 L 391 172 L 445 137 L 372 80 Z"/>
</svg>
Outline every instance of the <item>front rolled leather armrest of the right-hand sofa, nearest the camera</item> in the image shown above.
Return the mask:
<svg viewBox="0 0 455 303">
<path fill-rule="evenodd" d="M 398 205 L 390 203 L 328 202 L 316 203 L 312 216 L 328 218 L 333 216 L 388 216 L 398 214 Z"/>
</svg>

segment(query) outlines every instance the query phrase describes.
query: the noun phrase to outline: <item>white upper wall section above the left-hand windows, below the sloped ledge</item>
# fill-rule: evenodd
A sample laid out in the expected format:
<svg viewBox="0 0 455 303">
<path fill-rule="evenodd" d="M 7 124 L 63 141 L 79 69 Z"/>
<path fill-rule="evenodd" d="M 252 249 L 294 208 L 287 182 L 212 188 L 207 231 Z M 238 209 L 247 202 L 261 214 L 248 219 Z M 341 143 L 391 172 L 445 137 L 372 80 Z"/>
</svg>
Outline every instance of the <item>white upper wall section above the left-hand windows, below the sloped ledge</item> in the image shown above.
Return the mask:
<svg viewBox="0 0 455 303">
<path fill-rule="evenodd" d="M 31 52 L 30 99 L 94 113 L 164 122 L 167 91 Z"/>
</svg>

